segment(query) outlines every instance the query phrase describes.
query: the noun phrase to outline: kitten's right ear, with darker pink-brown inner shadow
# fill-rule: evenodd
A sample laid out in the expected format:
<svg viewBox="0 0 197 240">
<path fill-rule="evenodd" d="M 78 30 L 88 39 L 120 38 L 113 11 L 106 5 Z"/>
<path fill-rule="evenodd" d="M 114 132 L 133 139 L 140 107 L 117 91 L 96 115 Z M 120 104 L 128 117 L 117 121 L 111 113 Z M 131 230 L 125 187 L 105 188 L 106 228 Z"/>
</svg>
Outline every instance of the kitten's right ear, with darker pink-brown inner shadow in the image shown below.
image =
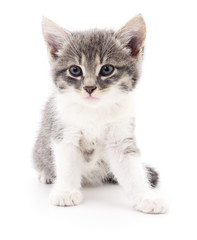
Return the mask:
<svg viewBox="0 0 197 240">
<path fill-rule="evenodd" d="M 132 18 L 118 32 L 116 37 L 121 44 L 131 49 L 131 56 L 137 57 L 144 48 L 146 24 L 141 15 Z"/>
</svg>

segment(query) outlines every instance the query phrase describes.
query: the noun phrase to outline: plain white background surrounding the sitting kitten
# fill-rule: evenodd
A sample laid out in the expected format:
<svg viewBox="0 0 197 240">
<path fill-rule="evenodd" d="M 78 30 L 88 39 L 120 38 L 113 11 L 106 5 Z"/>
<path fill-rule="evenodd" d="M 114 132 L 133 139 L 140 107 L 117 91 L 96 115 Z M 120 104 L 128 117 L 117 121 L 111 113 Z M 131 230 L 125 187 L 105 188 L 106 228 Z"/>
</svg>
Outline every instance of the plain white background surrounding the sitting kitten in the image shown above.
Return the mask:
<svg viewBox="0 0 197 240">
<path fill-rule="evenodd" d="M 119 186 L 83 190 L 80 206 L 53 207 L 51 185 L 31 166 L 41 109 L 51 93 L 41 18 L 69 30 L 118 29 L 142 13 L 147 23 L 137 87 L 142 161 L 156 167 L 166 215 L 131 209 Z M 1 1 L 0 238 L 196 239 L 197 13 L 195 1 Z"/>
</svg>

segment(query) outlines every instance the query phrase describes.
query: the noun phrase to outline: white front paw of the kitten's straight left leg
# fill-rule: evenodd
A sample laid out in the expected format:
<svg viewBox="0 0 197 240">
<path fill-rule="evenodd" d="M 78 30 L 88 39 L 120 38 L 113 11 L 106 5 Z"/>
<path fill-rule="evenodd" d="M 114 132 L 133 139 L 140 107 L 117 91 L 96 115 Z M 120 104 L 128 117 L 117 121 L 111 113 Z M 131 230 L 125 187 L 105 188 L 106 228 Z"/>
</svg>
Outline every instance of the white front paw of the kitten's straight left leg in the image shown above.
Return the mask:
<svg viewBox="0 0 197 240">
<path fill-rule="evenodd" d="M 75 206 L 82 201 L 82 193 L 78 190 L 53 190 L 50 196 L 51 204 L 55 206 Z"/>
</svg>

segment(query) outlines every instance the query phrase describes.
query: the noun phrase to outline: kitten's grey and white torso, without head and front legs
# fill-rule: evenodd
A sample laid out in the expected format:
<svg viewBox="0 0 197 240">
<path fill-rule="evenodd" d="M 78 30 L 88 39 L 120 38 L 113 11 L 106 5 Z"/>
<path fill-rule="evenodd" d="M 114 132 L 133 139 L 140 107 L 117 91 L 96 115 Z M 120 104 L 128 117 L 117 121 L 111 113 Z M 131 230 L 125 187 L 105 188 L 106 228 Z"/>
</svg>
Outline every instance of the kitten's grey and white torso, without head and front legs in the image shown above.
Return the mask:
<svg viewBox="0 0 197 240">
<path fill-rule="evenodd" d="M 124 99 L 122 103 L 114 103 L 100 109 L 72 104 L 62 97 L 56 92 L 46 104 L 40 136 L 34 151 L 35 166 L 46 179 L 53 181 L 56 173 L 51 140 L 55 138 L 61 141 L 63 135 L 70 135 L 69 141 L 74 141 L 84 157 L 82 185 L 101 184 L 113 176 L 105 154 L 109 144 L 109 133 L 129 120 L 128 131 L 130 136 L 134 137 L 132 96 L 127 96 L 128 99 Z"/>
</svg>

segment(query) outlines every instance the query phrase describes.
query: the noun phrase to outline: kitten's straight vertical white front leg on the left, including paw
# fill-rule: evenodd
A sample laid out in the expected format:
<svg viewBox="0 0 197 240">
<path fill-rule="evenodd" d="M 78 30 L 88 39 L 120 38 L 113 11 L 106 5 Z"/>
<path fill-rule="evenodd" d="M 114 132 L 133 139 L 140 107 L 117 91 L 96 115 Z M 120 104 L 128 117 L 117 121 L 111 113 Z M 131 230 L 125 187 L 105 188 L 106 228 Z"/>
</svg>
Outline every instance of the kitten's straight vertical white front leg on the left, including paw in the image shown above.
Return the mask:
<svg viewBox="0 0 197 240">
<path fill-rule="evenodd" d="M 56 183 L 50 202 L 56 206 L 77 205 L 82 200 L 81 164 L 82 153 L 71 143 L 64 140 L 53 143 L 55 157 Z"/>
</svg>

